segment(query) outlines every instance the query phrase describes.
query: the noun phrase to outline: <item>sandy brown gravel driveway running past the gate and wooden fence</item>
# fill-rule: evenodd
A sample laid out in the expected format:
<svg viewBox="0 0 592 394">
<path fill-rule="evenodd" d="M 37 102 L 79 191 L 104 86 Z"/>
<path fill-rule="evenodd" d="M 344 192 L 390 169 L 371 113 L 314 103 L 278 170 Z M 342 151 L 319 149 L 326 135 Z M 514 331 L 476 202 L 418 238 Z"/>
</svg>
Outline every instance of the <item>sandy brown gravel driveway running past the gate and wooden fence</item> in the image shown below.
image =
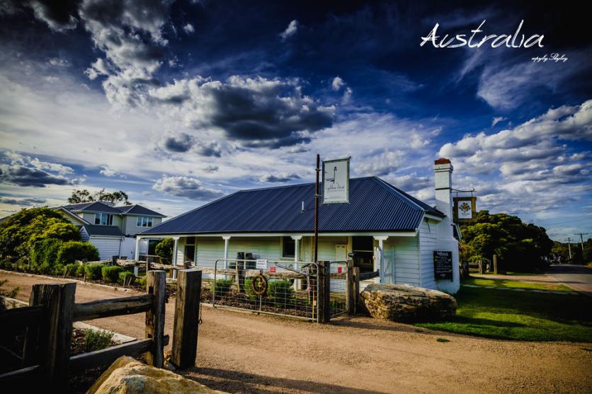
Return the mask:
<svg viewBox="0 0 592 394">
<path fill-rule="evenodd" d="M 0 279 L 21 286 L 23 300 L 32 284 L 51 282 L 5 272 Z M 76 302 L 127 294 L 79 284 Z M 171 300 L 169 335 L 173 308 Z M 90 323 L 144 335 L 141 314 Z M 241 393 L 589 393 L 591 366 L 592 344 L 486 340 L 360 317 L 318 325 L 204 307 L 198 366 L 183 374 Z"/>
</svg>

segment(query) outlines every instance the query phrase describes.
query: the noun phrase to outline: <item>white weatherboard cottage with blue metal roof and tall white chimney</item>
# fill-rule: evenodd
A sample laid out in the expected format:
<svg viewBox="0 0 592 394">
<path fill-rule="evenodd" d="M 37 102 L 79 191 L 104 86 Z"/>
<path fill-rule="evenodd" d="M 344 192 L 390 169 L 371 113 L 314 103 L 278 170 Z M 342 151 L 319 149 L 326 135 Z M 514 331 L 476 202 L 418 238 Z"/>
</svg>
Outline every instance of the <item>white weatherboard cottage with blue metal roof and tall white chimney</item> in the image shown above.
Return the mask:
<svg viewBox="0 0 592 394">
<path fill-rule="evenodd" d="M 361 272 L 380 273 L 376 282 L 456 293 L 452 164 L 440 158 L 433 169 L 436 207 L 377 177 L 351 179 L 348 204 L 319 204 L 319 260 L 347 260 L 353 253 Z M 173 260 L 179 265 L 214 267 L 217 259 L 237 253 L 286 263 L 312 261 L 313 222 L 314 183 L 266 187 L 241 190 L 176 216 L 138 234 L 137 241 L 173 238 Z M 435 251 L 451 253 L 451 278 L 440 279 L 435 272 Z"/>
</svg>

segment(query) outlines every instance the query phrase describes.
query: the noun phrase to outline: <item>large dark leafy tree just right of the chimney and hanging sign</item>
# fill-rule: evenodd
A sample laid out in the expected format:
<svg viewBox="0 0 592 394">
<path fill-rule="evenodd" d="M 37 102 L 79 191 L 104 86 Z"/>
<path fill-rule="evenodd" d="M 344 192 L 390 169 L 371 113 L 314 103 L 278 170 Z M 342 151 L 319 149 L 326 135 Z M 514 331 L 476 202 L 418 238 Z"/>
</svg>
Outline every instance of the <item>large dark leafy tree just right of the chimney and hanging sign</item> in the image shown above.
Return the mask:
<svg viewBox="0 0 592 394">
<path fill-rule="evenodd" d="M 469 260 L 491 261 L 496 254 L 501 271 L 545 269 L 554 246 L 545 228 L 486 210 L 477 213 L 474 223 L 462 227 L 462 237 L 470 250 Z"/>
</svg>

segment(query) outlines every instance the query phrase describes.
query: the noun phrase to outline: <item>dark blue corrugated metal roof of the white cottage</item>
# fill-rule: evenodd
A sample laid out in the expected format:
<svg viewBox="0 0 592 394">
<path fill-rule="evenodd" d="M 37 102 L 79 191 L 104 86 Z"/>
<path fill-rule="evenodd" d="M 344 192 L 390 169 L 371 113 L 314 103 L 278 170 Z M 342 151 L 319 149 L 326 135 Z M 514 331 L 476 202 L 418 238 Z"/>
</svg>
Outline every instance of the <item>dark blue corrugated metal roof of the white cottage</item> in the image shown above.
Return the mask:
<svg viewBox="0 0 592 394">
<path fill-rule="evenodd" d="M 444 216 L 376 177 L 351 179 L 349 200 L 319 204 L 320 232 L 414 231 L 424 212 Z M 241 190 L 142 234 L 309 233 L 313 226 L 314 183 L 308 183 Z"/>
</svg>

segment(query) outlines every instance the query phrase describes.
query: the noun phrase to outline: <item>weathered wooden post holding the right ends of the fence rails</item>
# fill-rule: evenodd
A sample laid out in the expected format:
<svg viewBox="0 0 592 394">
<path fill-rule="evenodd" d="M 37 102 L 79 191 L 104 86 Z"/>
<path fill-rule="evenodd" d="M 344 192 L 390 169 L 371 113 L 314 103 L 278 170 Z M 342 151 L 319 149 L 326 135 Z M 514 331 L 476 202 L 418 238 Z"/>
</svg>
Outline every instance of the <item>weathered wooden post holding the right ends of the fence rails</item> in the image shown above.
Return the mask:
<svg viewBox="0 0 592 394">
<path fill-rule="evenodd" d="M 148 294 L 154 294 L 152 307 L 146 312 L 146 337 L 154 342 L 150 352 L 146 353 L 149 365 L 162 368 L 164 364 L 163 336 L 164 336 L 164 296 L 166 286 L 166 272 L 162 270 L 149 271 L 146 274 Z"/>
</svg>

